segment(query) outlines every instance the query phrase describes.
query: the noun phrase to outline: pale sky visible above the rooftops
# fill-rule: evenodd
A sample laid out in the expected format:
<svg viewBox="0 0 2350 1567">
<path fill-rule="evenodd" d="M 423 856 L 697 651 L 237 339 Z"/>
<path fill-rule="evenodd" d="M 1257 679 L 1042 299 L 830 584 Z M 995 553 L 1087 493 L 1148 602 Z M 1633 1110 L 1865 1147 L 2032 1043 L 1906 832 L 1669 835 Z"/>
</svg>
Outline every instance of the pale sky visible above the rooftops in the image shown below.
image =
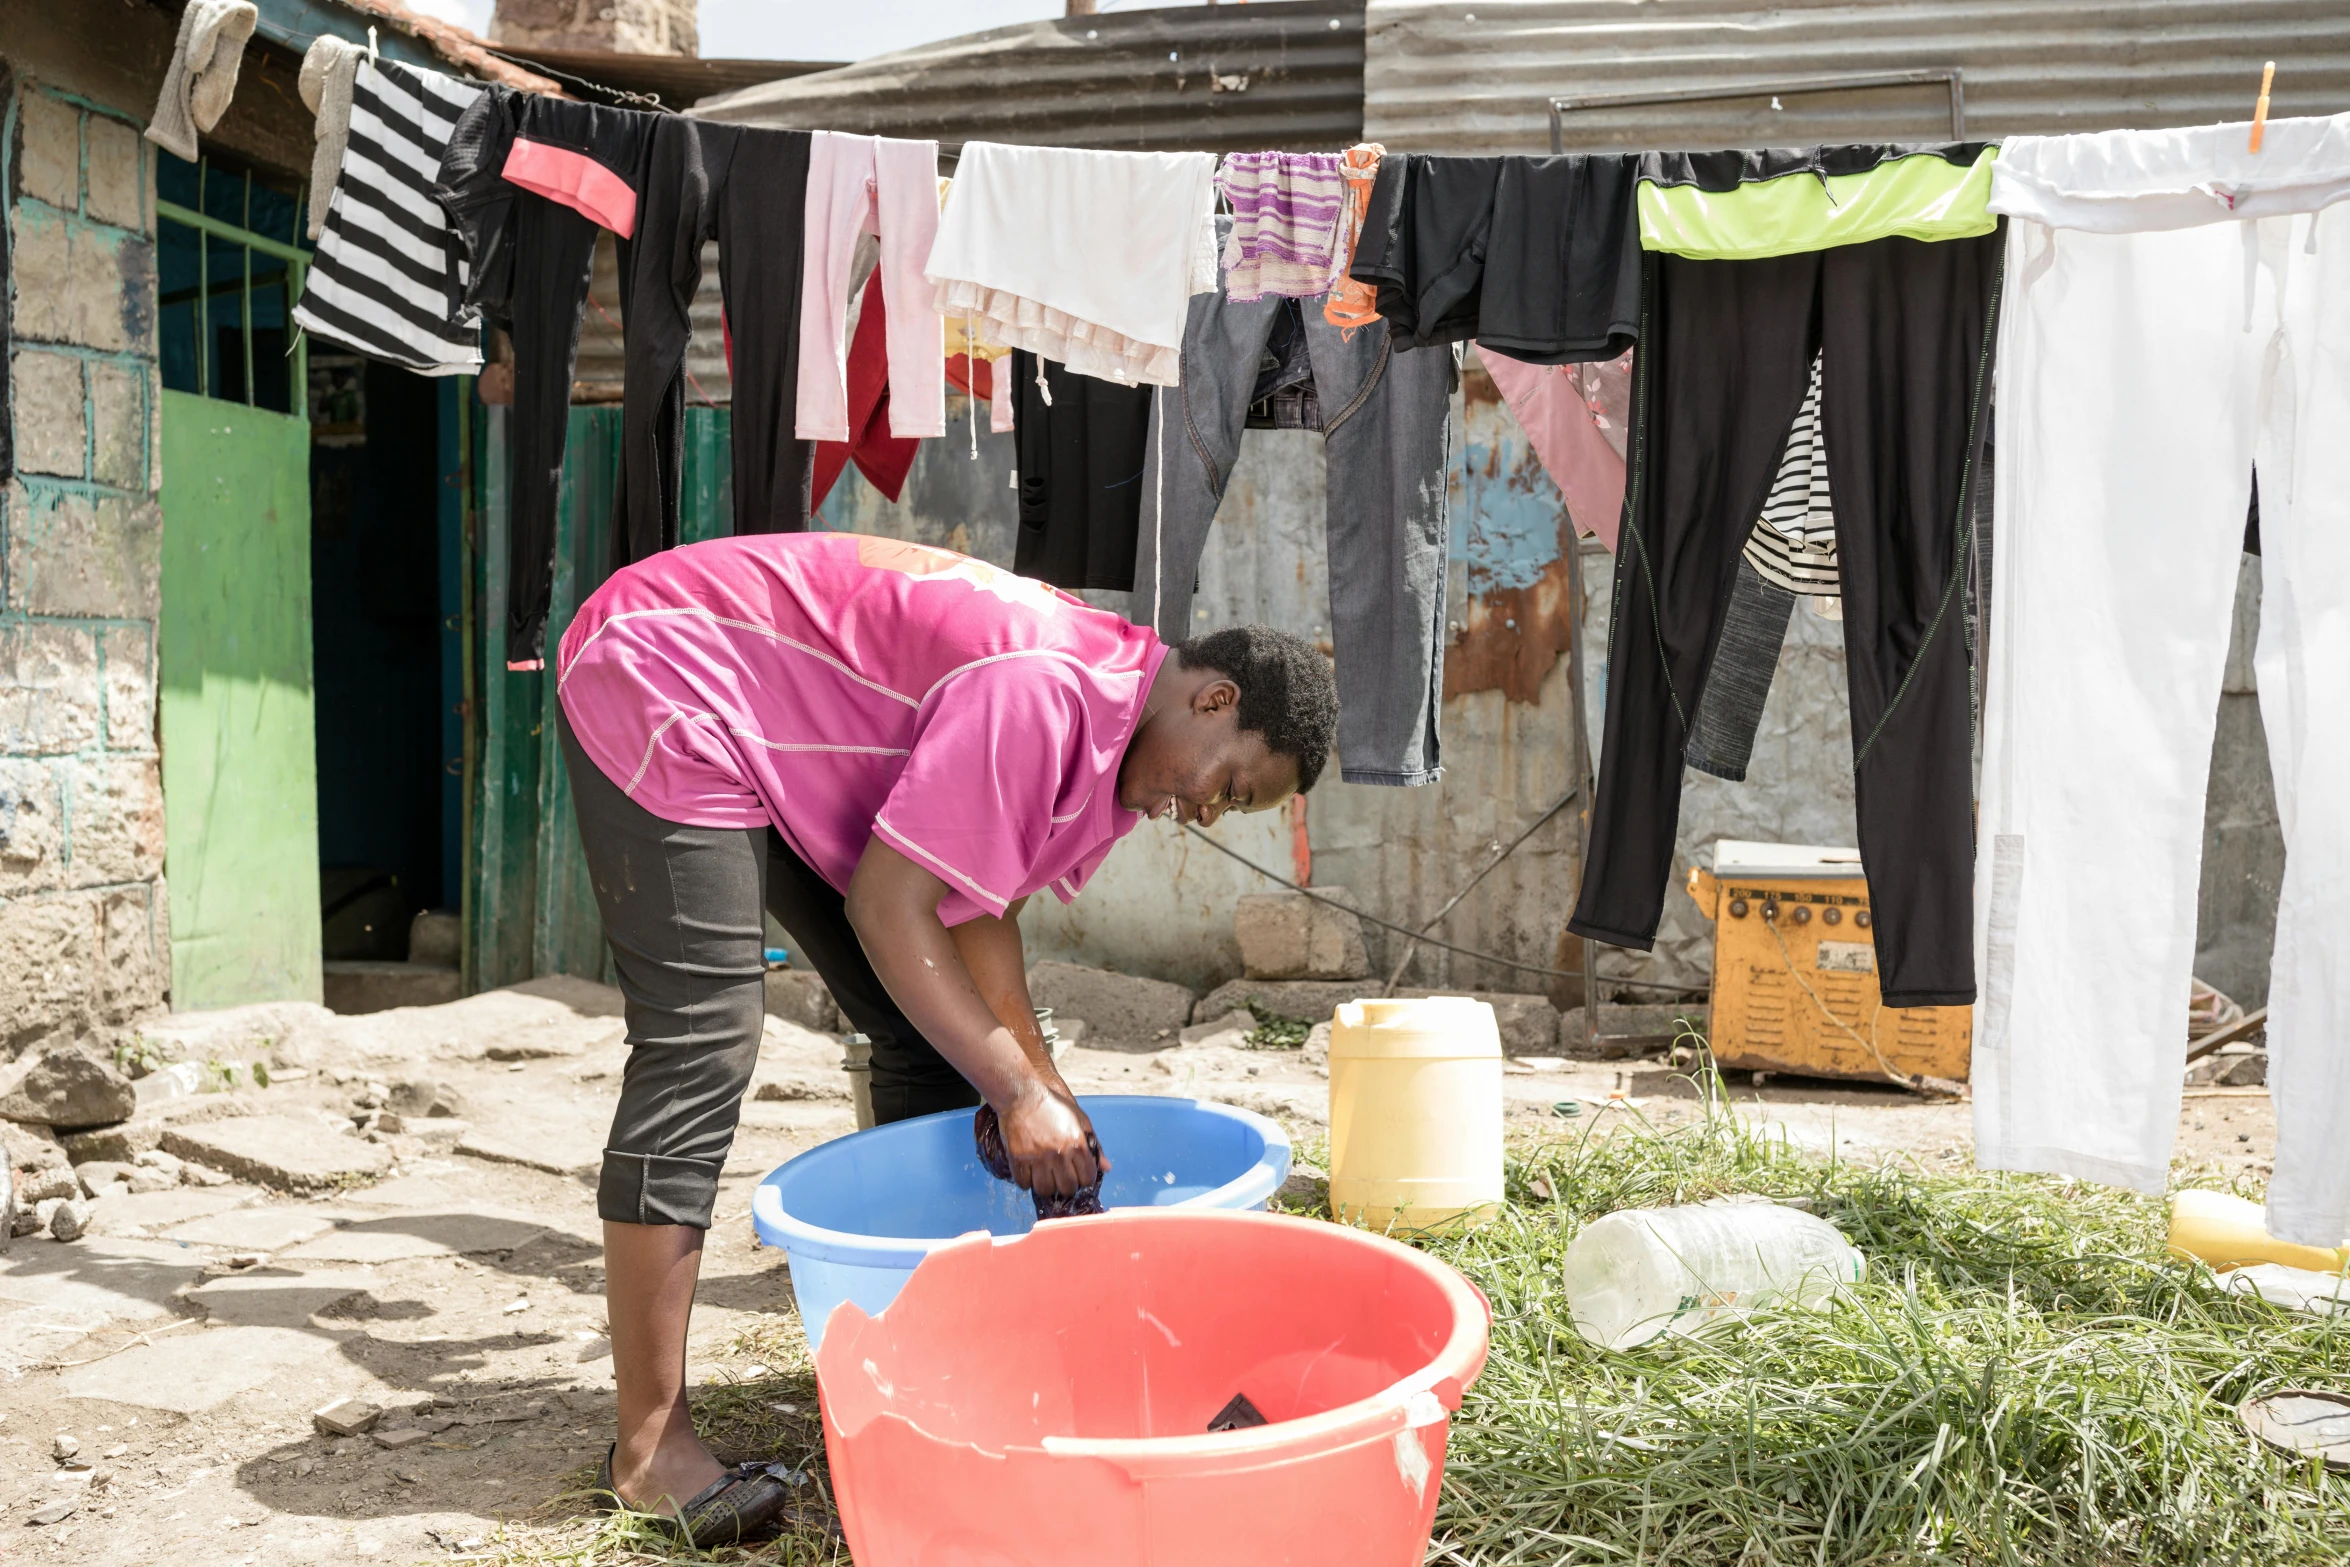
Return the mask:
<svg viewBox="0 0 2350 1567">
<path fill-rule="evenodd" d="M 407 0 L 411 9 L 489 35 L 494 0 Z M 1187 0 L 1152 0 L 1184 5 Z M 865 59 L 1013 21 L 1060 16 L 1062 0 L 700 0 L 710 59 Z M 1102 0 L 1104 12 L 1142 0 Z"/>
</svg>

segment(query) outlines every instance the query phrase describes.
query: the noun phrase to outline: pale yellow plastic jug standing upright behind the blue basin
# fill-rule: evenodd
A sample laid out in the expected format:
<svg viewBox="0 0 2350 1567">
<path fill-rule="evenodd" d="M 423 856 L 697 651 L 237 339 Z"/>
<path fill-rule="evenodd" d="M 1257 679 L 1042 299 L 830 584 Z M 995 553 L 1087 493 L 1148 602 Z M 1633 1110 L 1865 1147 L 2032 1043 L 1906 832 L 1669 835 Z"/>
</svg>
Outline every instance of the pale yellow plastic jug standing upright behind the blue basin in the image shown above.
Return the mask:
<svg viewBox="0 0 2350 1567">
<path fill-rule="evenodd" d="M 1438 1231 L 1502 1208 L 1502 1029 L 1469 996 L 1349 1001 L 1330 1020 L 1330 1208 Z"/>
</svg>

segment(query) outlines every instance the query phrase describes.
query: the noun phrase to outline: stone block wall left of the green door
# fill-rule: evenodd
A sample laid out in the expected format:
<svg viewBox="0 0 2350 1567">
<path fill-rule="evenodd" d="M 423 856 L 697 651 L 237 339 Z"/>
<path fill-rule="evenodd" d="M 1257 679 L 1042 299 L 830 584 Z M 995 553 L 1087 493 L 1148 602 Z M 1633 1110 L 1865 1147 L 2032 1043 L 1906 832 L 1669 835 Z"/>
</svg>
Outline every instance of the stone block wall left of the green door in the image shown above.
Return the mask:
<svg viewBox="0 0 2350 1567">
<path fill-rule="evenodd" d="M 0 75 L 0 1060 L 162 1010 L 155 742 L 155 150 L 139 120 Z"/>
</svg>

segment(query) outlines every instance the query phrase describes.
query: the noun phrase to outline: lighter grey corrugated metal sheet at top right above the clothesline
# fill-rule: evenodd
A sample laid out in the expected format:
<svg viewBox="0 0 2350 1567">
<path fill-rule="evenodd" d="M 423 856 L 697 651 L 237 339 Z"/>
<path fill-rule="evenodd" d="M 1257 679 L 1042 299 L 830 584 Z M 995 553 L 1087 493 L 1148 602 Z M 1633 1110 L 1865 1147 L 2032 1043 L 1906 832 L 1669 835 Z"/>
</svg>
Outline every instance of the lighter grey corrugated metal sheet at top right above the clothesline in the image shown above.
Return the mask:
<svg viewBox="0 0 2350 1567">
<path fill-rule="evenodd" d="M 2350 110 L 2343 0 L 1372 0 L 1363 134 L 1396 150 L 1544 153 L 1553 94 L 1746 87 L 1958 66 L 1967 134 Z M 1567 150 L 1939 141 L 1941 85 L 1565 115 Z"/>
</svg>

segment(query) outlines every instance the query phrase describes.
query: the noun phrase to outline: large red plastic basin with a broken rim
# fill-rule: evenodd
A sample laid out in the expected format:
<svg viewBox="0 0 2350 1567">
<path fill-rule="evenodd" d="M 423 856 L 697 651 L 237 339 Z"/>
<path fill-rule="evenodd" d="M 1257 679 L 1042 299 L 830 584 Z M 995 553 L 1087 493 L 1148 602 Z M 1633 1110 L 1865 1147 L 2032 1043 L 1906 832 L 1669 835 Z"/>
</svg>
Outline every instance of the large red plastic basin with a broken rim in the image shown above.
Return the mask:
<svg viewBox="0 0 2350 1567">
<path fill-rule="evenodd" d="M 1121 1210 L 968 1236 L 815 1374 L 865 1567 L 1415 1567 L 1483 1297 L 1379 1236 Z M 1210 1433 L 1246 1393 L 1269 1424 Z"/>
</svg>

